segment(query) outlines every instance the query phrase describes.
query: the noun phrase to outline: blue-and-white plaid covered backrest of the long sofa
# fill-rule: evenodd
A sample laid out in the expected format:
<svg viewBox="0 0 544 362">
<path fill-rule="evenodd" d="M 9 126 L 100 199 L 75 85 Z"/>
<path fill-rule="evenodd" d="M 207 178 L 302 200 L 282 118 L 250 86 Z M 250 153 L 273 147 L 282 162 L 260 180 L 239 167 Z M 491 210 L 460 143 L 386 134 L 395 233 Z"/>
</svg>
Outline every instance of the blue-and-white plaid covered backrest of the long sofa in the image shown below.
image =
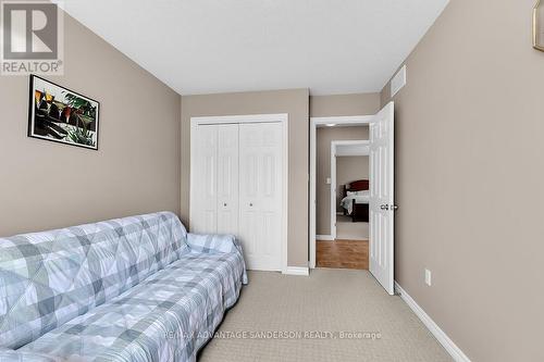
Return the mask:
<svg viewBox="0 0 544 362">
<path fill-rule="evenodd" d="M 187 248 L 170 212 L 0 238 L 0 347 L 16 349 L 119 296 Z"/>
</svg>

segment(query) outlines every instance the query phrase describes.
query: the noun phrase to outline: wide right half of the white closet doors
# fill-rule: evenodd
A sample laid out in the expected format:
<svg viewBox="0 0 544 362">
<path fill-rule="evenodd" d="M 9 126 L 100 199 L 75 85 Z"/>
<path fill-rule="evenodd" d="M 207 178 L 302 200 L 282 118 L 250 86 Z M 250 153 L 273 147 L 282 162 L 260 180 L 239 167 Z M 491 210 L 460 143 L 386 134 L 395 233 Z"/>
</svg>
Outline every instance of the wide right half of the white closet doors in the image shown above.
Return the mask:
<svg viewBox="0 0 544 362">
<path fill-rule="evenodd" d="M 239 232 L 247 267 L 282 270 L 282 124 L 239 125 Z"/>
</svg>

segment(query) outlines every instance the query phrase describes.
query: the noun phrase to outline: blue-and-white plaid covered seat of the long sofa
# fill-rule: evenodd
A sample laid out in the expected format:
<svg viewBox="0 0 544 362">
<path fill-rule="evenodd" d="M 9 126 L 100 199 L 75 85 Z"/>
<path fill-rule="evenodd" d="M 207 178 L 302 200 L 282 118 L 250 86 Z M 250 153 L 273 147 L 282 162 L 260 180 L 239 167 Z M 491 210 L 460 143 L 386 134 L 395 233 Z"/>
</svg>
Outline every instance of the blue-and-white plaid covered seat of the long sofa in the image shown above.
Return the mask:
<svg viewBox="0 0 544 362">
<path fill-rule="evenodd" d="M 245 277 L 240 252 L 189 251 L 21 351 L 74 361 L 195 361 Z"/>
</svg>

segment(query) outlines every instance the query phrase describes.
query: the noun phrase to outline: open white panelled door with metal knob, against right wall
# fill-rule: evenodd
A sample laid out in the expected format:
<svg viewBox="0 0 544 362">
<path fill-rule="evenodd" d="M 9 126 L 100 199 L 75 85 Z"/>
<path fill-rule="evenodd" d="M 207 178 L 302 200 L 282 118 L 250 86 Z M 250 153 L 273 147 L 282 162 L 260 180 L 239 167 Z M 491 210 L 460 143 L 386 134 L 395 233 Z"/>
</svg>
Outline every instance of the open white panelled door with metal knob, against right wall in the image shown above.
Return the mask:
<svg viewBox="0 0 544 362">
<path fill-rule="evenodd" d="M 394 104 L 370 123 L 370 272 L 387 290 L 394 279 Z"/>
</svg>

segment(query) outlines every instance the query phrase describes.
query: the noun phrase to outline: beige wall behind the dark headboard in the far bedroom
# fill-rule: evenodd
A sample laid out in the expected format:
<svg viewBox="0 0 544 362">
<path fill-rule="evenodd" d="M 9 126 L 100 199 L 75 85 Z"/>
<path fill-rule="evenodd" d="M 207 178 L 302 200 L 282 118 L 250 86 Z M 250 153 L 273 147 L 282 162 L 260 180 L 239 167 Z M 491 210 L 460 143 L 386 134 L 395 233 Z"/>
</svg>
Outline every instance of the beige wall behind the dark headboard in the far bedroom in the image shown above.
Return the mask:
<svg viewBox="0 0 544 362">
<path fill-rule="evenodd" d="M 343 211 L 341 207 L 344 196 L 344 185 L 357 179 L 369 179 L 368 155 L 343 155 L 336 158 L 336 211 Z"/>
</svg>

